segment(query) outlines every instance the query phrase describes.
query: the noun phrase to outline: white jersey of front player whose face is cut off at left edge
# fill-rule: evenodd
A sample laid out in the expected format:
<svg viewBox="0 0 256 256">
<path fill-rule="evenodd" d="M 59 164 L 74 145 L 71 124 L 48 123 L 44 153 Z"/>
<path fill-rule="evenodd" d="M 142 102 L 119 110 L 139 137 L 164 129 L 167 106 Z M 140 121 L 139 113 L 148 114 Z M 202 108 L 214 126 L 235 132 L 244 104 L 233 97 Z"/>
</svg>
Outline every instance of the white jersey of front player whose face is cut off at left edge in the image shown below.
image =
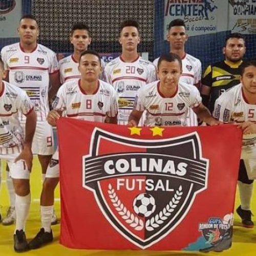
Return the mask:
<svg viewBox="0 0 256 256">
<path fill-rule="evenodd" d="M 3 81 L 0 92 L 0 154 L 15 154 L 23 149 L 25 133 L 18 112 L 28 115 L 33 110 L 28 95 L 16 86 Z"/>
</svg>

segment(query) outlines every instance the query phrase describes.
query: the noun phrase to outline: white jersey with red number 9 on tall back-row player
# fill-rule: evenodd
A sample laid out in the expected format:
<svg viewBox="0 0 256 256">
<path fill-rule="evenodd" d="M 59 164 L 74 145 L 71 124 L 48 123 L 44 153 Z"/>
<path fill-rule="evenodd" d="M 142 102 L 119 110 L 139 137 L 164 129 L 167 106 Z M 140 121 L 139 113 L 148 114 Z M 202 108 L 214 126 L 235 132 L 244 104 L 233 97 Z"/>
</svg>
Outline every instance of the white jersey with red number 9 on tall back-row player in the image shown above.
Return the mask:
<svg viewBox="0 0 256 256">
<path fill-rule="evenodd" d="M 34 105 L 38 121 L 45 121 L 49 112 L 49 74 L 58 72 L 55 53 L 37 44 L 33 52 L 24 52 L 19 43 L 5 46 L 1 51 L 11 84 L 25 90 Z M 25 117 L 20 115 L 20 120 Z"/>
</svg>

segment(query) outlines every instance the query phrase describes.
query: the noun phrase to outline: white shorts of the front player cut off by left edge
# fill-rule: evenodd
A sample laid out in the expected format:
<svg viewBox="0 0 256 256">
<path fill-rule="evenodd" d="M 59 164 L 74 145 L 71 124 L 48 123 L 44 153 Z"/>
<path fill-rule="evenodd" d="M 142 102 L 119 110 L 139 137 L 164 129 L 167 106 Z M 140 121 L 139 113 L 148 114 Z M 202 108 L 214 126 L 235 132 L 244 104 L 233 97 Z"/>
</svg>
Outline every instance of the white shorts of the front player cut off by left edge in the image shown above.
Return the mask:
<svg viewBox="0 0 256 256">
<path fill-rule="evenodd" d="M 5 160 L 9 166 L 9 175 L 13 179 L 26 179 L 29 180 L 30 172 L 28 166 L 24 160 L 19 160 L 14 163 L 14 160 L 19 155 L 19 153 L 9 154 L 9 155 L 0 155 L 0 159 Z"/>
</svg>

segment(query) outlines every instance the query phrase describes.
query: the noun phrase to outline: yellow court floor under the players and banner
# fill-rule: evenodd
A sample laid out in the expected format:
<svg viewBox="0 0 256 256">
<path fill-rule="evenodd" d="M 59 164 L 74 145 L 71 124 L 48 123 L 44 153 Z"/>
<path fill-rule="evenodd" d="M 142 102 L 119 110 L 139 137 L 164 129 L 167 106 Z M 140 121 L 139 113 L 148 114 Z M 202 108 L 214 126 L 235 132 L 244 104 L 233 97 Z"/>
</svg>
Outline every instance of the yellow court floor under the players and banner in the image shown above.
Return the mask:
<svg viewBox="0 0 256 256">
<path fill-rule="evenodd" d="M 2 216 L 5 214 L 6 209 L 8 207 L 8 196 L 6 189 L 6 174 L 3 172 L 2 174 L 2 186 L 0 190 L 0 210 Z M 26 236 L 27 239 L 32 239 L 35 234 L 40 229 L 40 217 L 39 217 L 39 196 L 41 190 L 41 175 L 40 168 L 37 158 L 34 159 L 33 163 L 33 171 L 31 176 L 31 208 L 30 215 L 26 225 Z M 254 188 L 255 190 L 255 188 Z M 255 195 L 256 196 L 256 195 Z M 56 189 L 57 198 L 55 202 L 55 210 L 56 214 L 60 216 L 60 202 L 59 202 L 59 189 Z M 252 211 L 255 212 L 256 215 L 256 199 L 253 198 Z M 236 207 L 239 205 L 239 199 L 237 196 Z M 50 245 L 42 247 L 38 250 L 31 250 L 23 253 L 24 255 L 92 255 L 92 256 L 158 256 L 158 255 L 221 255 L 221 256 L 233 256 L 233 255 L 241 255 L 241 256 L 249 256 L 256 255 L 256 228 L 248 229 L 240 226 L 240 221 L 237 214 L 234 215 L 234 233 L 233 233 L 233 243 L 232 247 L 229 250 L 223 252 L 178 252 L 178 251 L 149 251 L 149 250 L 140 250 L 140 251 L 105 251 L 105 250 L 75 250 L 66 248 L 58 243 L 59 239 L 59 224 L 53 226 L 54 233 L 54 242 Z M 254 222 L 256 223 L 256 217 L 254 218 Z M 3 226 L 0 224 L 0 256 L 5 255 L 17 255 L 17 253 L 13 250 L 13 232 L 14 225 L 11 226 Z"/>
</svg>

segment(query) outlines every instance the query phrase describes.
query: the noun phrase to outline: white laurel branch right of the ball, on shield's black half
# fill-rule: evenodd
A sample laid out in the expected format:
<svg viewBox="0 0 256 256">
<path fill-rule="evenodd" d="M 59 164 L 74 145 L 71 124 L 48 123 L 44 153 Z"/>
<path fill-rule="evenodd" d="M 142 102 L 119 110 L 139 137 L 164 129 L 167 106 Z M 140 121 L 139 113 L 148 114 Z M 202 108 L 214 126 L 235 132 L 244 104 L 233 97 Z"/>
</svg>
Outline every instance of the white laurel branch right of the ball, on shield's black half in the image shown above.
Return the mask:
<svg viewBox="0 0 256 256">
<path fill-rule="evenodd" d="M 153 231 L 155 228 L 159 227 L 161 224 L 164 223 L 165 220 L 172 214 L 174 209 L 180 202 L 182 196 L 182 186 L 180 185 L 179 188 L 175 191 L 174 197 L 169 201 L 169 203 L 154 217 L 150 220 L 146 221 L 145 227 L 148 231 Z"/>
</svg>

